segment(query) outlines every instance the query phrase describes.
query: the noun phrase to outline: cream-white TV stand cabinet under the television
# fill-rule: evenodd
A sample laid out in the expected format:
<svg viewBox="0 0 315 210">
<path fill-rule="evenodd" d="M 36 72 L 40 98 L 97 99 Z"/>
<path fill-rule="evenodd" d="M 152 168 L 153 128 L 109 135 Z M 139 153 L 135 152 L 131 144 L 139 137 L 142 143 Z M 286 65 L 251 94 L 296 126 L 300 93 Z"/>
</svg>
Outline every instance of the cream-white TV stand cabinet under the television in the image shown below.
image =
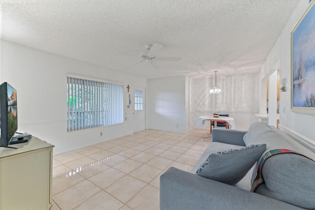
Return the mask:
<svg viewBox="0 0 315 210">
<path fill-rule="evenodd" d="M 50 210 L 54 145 L 32 136 L 14 147 L 0 147 L 0 210 Z"/>
</svg>

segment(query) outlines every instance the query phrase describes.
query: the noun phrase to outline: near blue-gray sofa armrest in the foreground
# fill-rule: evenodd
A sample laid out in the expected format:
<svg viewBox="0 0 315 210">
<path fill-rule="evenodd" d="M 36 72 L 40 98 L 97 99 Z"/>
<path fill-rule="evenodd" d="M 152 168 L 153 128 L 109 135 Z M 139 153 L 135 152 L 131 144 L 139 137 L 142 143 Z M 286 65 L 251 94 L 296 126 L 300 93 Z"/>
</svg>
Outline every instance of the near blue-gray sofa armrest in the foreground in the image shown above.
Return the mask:
<svg viewBox="0 0 315 210">
<path fill-rule="evenodd" d="M 296 206 L 189 172 L 160 176 L 160 210 L 301 210 Z"/>
</svg>

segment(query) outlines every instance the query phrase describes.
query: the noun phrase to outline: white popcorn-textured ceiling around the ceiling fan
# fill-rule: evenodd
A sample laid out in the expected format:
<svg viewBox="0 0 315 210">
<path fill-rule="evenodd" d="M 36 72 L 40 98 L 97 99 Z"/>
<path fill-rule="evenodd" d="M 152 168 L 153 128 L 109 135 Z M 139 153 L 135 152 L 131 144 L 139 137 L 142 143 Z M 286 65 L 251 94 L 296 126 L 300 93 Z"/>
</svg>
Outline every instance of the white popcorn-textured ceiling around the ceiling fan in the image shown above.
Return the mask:
<svg viewBox="0 0 315 210">
<path fill-rule="evenodd" d="M 0 0 L 3 40 L 144 78 L 257 72 L 300 0 Z M 137 63 L 145 44 L 180 61 Z"/>
</svg>

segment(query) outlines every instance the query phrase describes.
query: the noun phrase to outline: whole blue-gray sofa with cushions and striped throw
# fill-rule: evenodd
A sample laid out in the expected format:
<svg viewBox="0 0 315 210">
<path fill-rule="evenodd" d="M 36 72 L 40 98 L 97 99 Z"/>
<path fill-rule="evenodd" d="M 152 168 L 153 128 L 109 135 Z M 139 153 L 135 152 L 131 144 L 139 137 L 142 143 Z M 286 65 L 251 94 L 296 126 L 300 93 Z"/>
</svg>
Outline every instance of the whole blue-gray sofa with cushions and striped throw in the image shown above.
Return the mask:
<svg viewBox="0 0 315 210">
<path fill-rule="evenodd" d="M 252 123 L 248 132 L 214 129 L 212 141 L 190 173 L 171 167 L 160 176 L 160 210 L 315 209 L 312 151 L 261 122 Z M 217 153 L 224 150 L 229 151 Z M 252 167 L 242 165 L 249 161 Z M 200 169 L 210 178 L 196 174 Z M 240 170 L 246 175 L 226 184 L 225 177 Z"/>
</svg>

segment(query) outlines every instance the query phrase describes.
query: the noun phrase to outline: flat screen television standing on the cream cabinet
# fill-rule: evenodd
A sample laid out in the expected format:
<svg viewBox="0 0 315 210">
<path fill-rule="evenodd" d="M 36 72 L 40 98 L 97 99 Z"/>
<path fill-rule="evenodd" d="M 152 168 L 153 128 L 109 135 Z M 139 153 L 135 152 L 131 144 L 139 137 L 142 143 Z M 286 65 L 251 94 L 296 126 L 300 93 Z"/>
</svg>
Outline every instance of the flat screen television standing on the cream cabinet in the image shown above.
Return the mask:
<svg viewBox="0 0 315 210">
<path fill-rule="evenodd" d="M 4 82 L 0 85 L 0 146 L 8 146 L 18 129 L 16 90 Z"/>
</svg>

